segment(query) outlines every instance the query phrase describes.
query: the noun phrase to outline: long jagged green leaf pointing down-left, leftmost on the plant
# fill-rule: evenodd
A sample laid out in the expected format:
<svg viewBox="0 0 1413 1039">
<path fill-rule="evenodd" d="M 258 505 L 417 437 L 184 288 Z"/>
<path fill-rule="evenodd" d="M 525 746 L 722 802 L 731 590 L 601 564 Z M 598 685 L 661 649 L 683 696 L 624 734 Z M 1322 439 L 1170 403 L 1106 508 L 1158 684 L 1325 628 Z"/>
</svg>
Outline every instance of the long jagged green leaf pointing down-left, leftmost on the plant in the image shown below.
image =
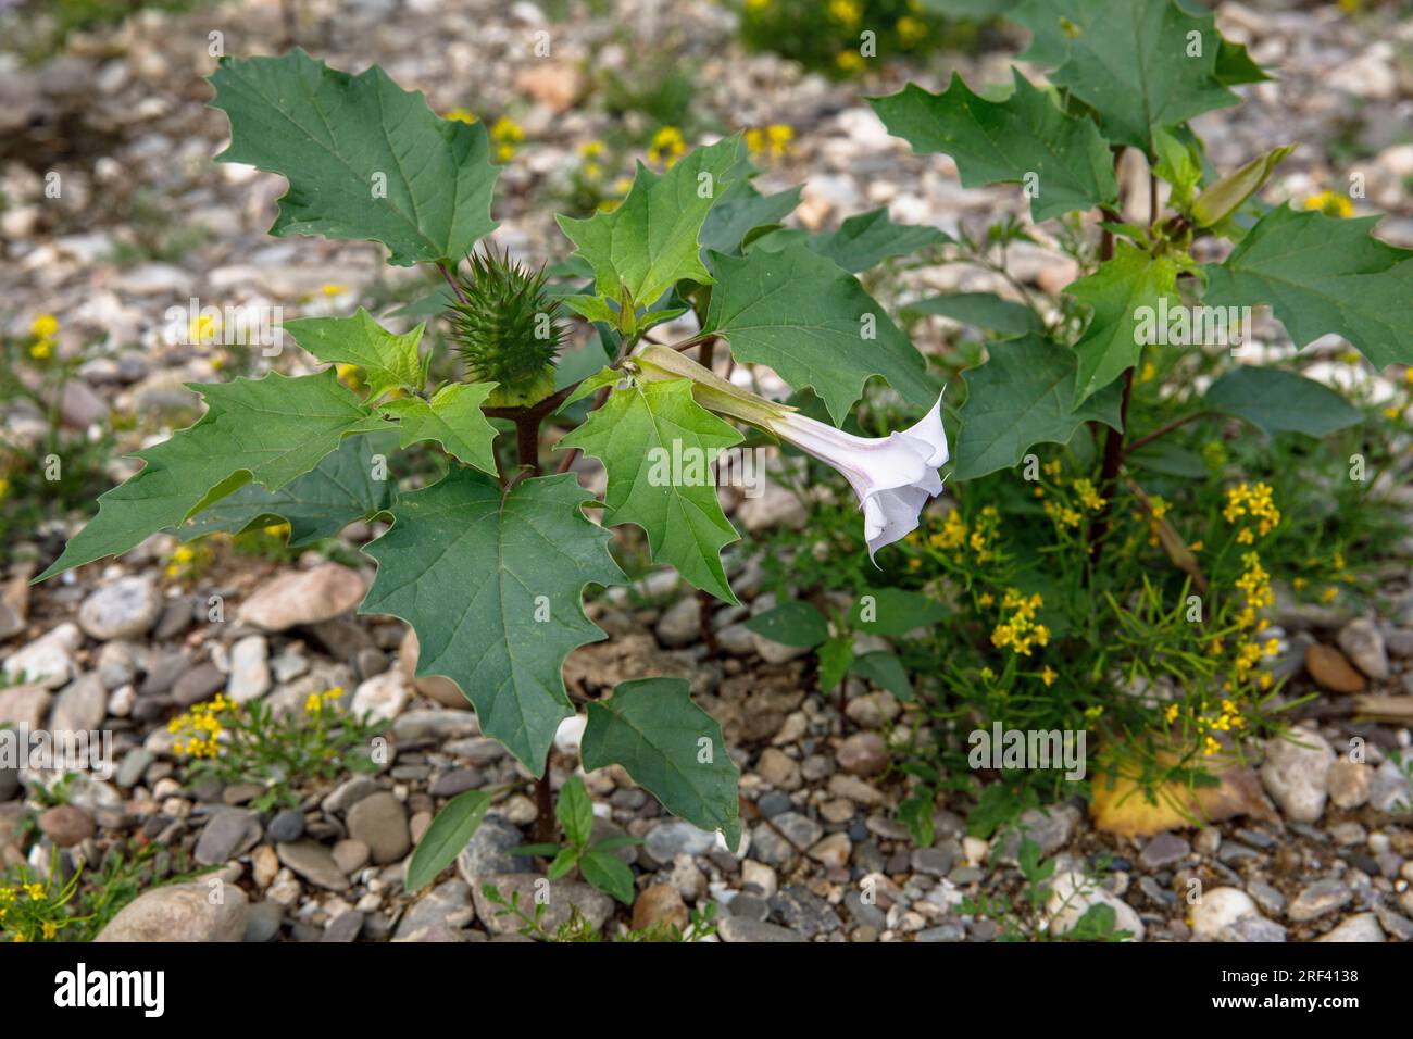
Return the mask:
<svg viewBox="0 0 1413 1039">
<path fill-rule="evenodd" d="M 263 379 L 188 383 L 188 389 L 205 397 L 206 414 L 137 452 L 141 472 L 97 499 L 97 516 L 37 581 L 119 556 L 252 481 L 278 491 L 318 465 L 343 437 L 383 424 L 333 369 L 292 379 L 271 372 Z"/>
</svg>

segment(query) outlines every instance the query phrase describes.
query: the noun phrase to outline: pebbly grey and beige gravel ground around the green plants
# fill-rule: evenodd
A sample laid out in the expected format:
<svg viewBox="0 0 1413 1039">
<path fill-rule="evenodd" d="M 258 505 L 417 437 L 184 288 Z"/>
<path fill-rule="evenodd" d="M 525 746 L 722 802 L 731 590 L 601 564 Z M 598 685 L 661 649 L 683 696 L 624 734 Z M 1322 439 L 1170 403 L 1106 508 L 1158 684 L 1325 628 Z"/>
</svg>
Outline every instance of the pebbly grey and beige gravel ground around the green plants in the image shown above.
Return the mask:
<svg viewBox="0 0 1413 1039">
<path fill-rule="evenodd" d="M 593 105 L 567 105 L 582 90 L 579 64 L 623 68 L 634 48 L 620 28 L 642 41 L 657 38 L 656 27 L 668 20 L 678 30 L 667 38 L 684 59 L 701 62 L 697 103 L 706 122 L 796 127 L 793 153 L 762 187 L 808 177 L 797 213 L 804 225 L 832 225 L 877 205 L 897 221 L 948 230 L 1023 212 L 1019 192 L 964 191 L 945 158 L 911 157 L 887 137 L 859 95 L 896 89 L 903 69 L 880 72 L 862 89 L 801 75 L 773 57 L 743 55 L 732 16 L 711 4 L 684 4 L 668 18 L 666 4 L 625 3 L 615 17 L 555 23 L 528 3 L 309 0 L 300 10 L 298 41 L 332 65 L 376 61 L 404 86 L 425 90 L 438 110 L 516 113 L 527 141 L 500 181 L 495 240 L 537 259 L 562 256 L 567 243 L 536 199 L 562 181 L 577 146 L 599 136 L 608 119 Z M 1241 88 L 1248 105 L 1198 120 L 1214 163 L 1235 165 L 1299 141 L 1275 194 L 1300 198 L 1361 172 L 1369 211 L 1390 213 L 1381 233 L 1413 246 L 1413 23 L 1379 14 L 1351 23 L 1332 6 L 1222 4 L 1218 17 L 1258 61 L 1277 66 L 1280 79 Z M 555 41 L 548 61 L 536 59 L 527 42 L 545 27 Z M 420 277 L 384 267 L 376 246 L 266 236 L 283 181 L 211 163 L 226 133 L 223 115 L 205 107 L 212 30 L 225 33 L 233 54 L 276 52 L 281 8 L 250 1 L 171 17 L 144 13 L 109 33 L 71 37 L 65 52 L 35 68 L 0 58 L 0 321 L 23 334 L 37 314 L 57 314 L 65 352 L 102 339 L 65 396 L 64 420 L 89 430 L 119 418 L 124 450 L 184 424 L 196 406 L 184 382 L 220 377 L 209 352 L 162 339 L 168 307 L 199 297 L 274 304 L 287 318 L 350 312 L 359 301 L 407 288 L 393 280 Z M 1015 51 L 1005 35 L 995 41 L 995 51 L 942 55 L 907 78 L 931 89 L 952 69 L 999 79 Z M 57 199 L 44 194 L 49 171 L 61 175 Z M 143 223 L 134 221 L 138 211 L 148 213 Z M 161 252 L 154 237 L 185 245 L 154 259 Z M 1019 277 L 1043 288 L 1072 277 L 1070 262 L 1044 243 L 1017 247 L 1015 264 Z M 897 291 L 981 290 L 993 287 L 991 277 L 950 266 L 913 273 Z M 338 288 L 326 293 L 331 284 Z M 1279 325 L 1266 331 L 1280 348 Z M 292 356 L 276 363 L 309 370 Z M 20 406 L 3 416 L 3 435 L 21 445 L 38 442 L 42 430 L 41 417 Z M 107 475 L 126 476 L 131 465 L 114 454 Z M 593 478 L 591 469 L 585 478 Z M 794 499 L 771 492 L 738 517 L 759 530 L 801 515 Z M 48 556 L 66 532 L 55 522 L 6 536 Z M 357 546 L 374 533 L 355 526 L 345 540 Z M 30 564 L 7 575 L 0 657 L 7 673 L 27 673 L 28 684 L 0 688 L 0 721 L 110 729 L 116 741 L 114 776 L 73 785 L 69 806 L 41 816 L 44 841 L 31 850 L 31 865 L 47 868 L 51 844 L 71 868 L 127 840 L 160 845 L 158 872 L 188 859 L 219 867 L 242 893 L 213 908 L 189 886 L 160 888 L 110 924 L 107 937 L 116 939 L 143 937 L 154 920 L 168 937 L 250 941 L 503 934 L 509 924 L 480 888 L 492 881 L 507 893 L 531 889 L 528 859 L 506 855 L 528 840 L 536 810 L 526 793 L 496 804 L 430 892 L 403 892 L 408 850 L 447 799 L 526 773 L 479 736 L 475 715 L 458 710 L 455 697 L 407 677 L 415 646 L 404 625 L 352 615 L 370 573 L 355 580 L 322 557 L 277 567 L 225 554 L 198 580 L 179 581 L 164 570 L 171 548 L 157 537 L 122 560 L 34 589 L 25 587 Z M 887 773 L 886 739 L 906 724 L 903 705 L 859 686 L 851 690 L 852 732 L 838 736 L 835 707 L 814 694 L 805 660 L 740 626 L 766 605 L 750 567 L 735 582 L 747 605 L 714 616 L 719 654 L 698 642 L 695 599 L 661 578 L 640 589 L 646 599 L 610 594 L 593 605 L 610 640 L 574 653 L 567 680 L 593 695 L 644 674 L 690 679 L 742 766 L 747 840 L 733 854 L 714 835 L 667 818 L 620 770 L 592 773 L 586 782 L 602 831 L 646 841 L 623 852 L 637 874 L 639 900 L 629 910 L 581 882 L 558 881 L 551 926 L 569 905 L 596 926 L 643 926 L 684 922 L 690 908 L 715 902 L 728 941 L 995 937 L 993 923 L 964 916 L 959 903 L 1016 891 L 1007 848 L 966 837 L 961 814 L 948 810 L 937 813 L 934 845 L 918 848 L 896 818 L 904 786 Z M 1277 618 L 1289 647 L 1282 666 L 1296 673 L 1296 693 L 1314 688 L 1317 705 L 1338 707 L 1338 681 L 1351 681 L 1344 671 L 1352 660 L 1361 686 L 1413 697 L 1406 564 L 1390 570 L 1385 591 L 1392 619 L 1294 609 Z M 227 604 L 222 622 L 208 619 L 212 595 Z M 651 605 L 639 605 L 644 601 Z M 179 782 L 167 731 L 177 711 L 219 688 L 294 708 L 335 686 L 355 708 L 389 720 L 396 752 L 379 773 L 309 786 L 300 809 L 285 813 L 249 809 L 257 793 L 249 786 Z M 1413 826 L 1400 803 L 1413 792 L 1383 758 L 1409 744 L 1406 722 L 1352 725 L 1337 710 L 1308 714 L 1308 746 L 1270 746 L 1251 773 L 1246 810 L 1221 824 L 1130 840 L 1094 830 L 1080 803 L 1027 813 L 1023 823 L 1060 857 L 1057 876 L 1078 889 L 1074 906 L 1109 902 L 1121 926 L 1145 940 L 1409 940 Z M 1331 745 L 1347 745 L 1351 735 L 1368 739 L 1368 763 L 1331 768 Z M 560 734 L 555 783 L 578 768 L 577 736 L 572 725 Z M 8 826 L 24 811 L 20 780 L 44 779 L 0 770 L 0 861 L 23 858 Z M 1111 872 L 1099 886 L 1087 878 L 1104 855 L 1112 857 Z M 1186 900 L 1191 879 L 1204 891 L 1195 906 Z"/>
</svg>

